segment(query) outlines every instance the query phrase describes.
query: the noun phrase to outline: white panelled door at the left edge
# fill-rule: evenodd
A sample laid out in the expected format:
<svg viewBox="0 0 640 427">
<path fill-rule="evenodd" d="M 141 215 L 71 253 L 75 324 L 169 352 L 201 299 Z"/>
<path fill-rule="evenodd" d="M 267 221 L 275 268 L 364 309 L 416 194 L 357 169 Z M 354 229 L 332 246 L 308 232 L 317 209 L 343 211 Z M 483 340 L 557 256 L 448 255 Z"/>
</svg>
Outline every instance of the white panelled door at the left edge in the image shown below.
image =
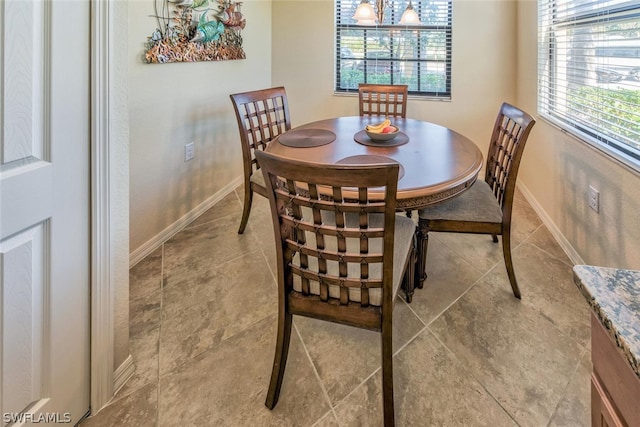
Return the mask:
<svg viewBox="0 0 640 427">
<path fill-rule="evenodd" d="M 90 402 L 90 4 L 0 1 L 2 425 Z"/>
</svg>

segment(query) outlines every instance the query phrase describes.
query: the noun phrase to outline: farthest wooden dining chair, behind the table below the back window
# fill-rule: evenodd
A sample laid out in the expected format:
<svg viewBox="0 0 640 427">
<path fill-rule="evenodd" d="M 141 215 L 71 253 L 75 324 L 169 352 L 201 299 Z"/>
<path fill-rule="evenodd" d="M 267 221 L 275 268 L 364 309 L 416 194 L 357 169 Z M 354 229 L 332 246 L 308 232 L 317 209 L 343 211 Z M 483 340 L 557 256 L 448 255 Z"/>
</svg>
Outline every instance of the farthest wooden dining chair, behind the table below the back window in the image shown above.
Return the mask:
<svg viewBox="0 0 640 427">
<path fill-rule="evenodd" d="M 407 85 L 360 83 L 361 116 L 407 117 Z"/>
</svg>

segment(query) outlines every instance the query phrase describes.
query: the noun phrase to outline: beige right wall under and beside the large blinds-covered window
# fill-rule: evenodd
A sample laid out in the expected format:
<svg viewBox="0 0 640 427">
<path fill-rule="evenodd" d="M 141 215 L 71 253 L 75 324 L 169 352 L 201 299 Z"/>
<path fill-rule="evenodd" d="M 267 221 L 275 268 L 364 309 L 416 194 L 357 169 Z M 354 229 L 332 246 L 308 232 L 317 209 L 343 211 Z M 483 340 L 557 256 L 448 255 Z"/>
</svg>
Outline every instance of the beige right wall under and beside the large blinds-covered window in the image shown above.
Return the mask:
<svg viewBox="0 0 640 427">
<path fill-rule="evenodd" d="M 536 2 L 518 3 L 518 104 L 536 112 Z M 535 197 L 581 261 L 640 269 L 640 174 L 538 117 L 519 181 Z M 600 191 L 600 213 L 587 189 Z"/>
</svg>

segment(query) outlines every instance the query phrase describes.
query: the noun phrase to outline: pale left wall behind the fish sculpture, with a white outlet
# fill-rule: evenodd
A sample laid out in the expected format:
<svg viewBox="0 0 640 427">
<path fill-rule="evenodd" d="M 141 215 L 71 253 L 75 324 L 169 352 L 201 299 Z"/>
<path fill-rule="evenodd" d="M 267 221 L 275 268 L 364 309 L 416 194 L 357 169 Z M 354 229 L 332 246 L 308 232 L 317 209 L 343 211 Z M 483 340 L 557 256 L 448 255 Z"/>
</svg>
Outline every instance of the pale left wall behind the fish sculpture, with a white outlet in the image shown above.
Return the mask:
<svg viewBox="0 0 640 427">
<path fill-rule="evenodd" d="M 131 252 L 157 245 L 165 229 L 241 176 L 229 94 L 271 85 L 270 1 L 242 5 L 247 59 L 172 64 L 143 62 L 153 4 L 129 2 Z M 191 141 L 196 157 L 184 162 Z"/>
</svg>

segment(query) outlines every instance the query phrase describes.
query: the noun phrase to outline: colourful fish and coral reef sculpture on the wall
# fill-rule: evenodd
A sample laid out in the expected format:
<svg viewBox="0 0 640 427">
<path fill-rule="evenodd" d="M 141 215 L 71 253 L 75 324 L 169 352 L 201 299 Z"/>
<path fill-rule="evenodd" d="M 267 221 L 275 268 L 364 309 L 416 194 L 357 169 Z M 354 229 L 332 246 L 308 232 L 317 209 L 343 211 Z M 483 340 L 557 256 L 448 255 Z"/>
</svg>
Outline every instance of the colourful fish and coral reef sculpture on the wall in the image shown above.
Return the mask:
<svg viewBox="0 0 640 427">
<path fill-rule="evenodd" d="M 158 27 L 146 43 L 148 63 L 244 59 L 241 2 L 154 0 Z"/>
</svg>

